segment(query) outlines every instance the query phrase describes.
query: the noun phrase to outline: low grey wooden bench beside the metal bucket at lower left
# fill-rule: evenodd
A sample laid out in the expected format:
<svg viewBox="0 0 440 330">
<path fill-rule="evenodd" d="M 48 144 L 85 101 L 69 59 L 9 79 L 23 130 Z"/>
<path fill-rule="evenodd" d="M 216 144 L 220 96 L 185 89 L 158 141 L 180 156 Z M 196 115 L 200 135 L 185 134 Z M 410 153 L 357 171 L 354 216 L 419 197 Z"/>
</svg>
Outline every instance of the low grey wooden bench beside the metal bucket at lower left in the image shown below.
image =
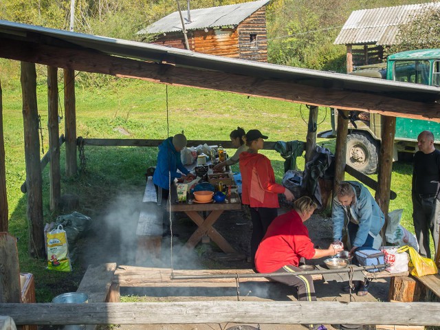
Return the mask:
<svg viewBox="0 0 440 330">
<path fill-rule="evenodd" d="M 76 290 L 89 296 L 89 303 L 119 303 L 119 284 L 113 283 L 116 263 L 89 265 Z M 96 329 L 96 325 L 87 325 L 87 330 Z"/>
</svg>

